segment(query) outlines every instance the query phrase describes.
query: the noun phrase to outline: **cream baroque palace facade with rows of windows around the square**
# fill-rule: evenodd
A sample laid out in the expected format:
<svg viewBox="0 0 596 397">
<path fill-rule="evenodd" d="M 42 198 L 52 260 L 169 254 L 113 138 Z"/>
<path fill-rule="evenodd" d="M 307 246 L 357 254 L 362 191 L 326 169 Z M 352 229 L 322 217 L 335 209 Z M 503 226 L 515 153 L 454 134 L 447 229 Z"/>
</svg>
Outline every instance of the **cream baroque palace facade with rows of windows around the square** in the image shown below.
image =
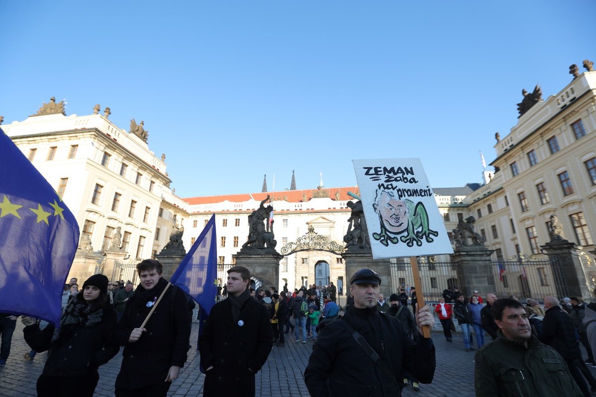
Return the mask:
<svg viewBox="0 0 596 397">
<path fill-rule="evenodd" d="M 316 189 L 296 190 L 292 176 L 290 189 L 278 192 L 179 198 L 169 187 L 165 156 L 157 157 L 149 149 L 142 124 L 133 120 L 126 131 L 114 125 L 109 114 L 108 108 L 100 114 L 96 105 L 94 114 L 66 115 L 52 98 L 36 115 L 2 125 L 63 197 L 81 233 L 91 237 L 94 251 L 107 249 L 120 227 L 120 248 L 131 260 L 154 257 L 176 226 L 184 226 L 188 251 L 215 213 L 218 262 L 231 265 L 247 240 L 249 215 L 267 195 L 274 208 L 278 252 L 313 236 L 344 245 L 350 217 L 347 202 L 352 199 L 347 193 L 358 194 L 357 186 L 325 188 L 321 182 Z M 555 215 L 565 238 L 583 249 L 586 283 L 594 285 L 595 131 L 596 71 L 578 73 L 546 100 L 536 98 L 507 136 L 496 136 L 496 158 L 491 163 L 495 172 L 486 171 L 483 183 L 433 189 L 449 235 L 460 220 L 473 216 L 476 232 L 493 250 L 493 260 L 544 259 L 541 245 L 550 240 L 548 222 Z M 425 260 L 449 262 L 449 256 Z M 514 283 L 521 271 L 510 268 L 509 280 L 499 282 Z M 457 282 L 453 268 L 445 267 L 443 273 L 439 283 L 425 284 L 441 292 Z M 281 260 L 276 287 L 334 282 L 345 290 L 349 276 L 340 254 L 294 252 Z M 393 276 L 399 278 L 394 285 L 413 284 L 408 276 Z M 549 276 L 536 275 L 544 277 L 541 283 L 548 283 Z M 220 277 L 224 279 L 223 274 Z M 424 267 L 421 277 L 430 277 Z"/>
</svg>

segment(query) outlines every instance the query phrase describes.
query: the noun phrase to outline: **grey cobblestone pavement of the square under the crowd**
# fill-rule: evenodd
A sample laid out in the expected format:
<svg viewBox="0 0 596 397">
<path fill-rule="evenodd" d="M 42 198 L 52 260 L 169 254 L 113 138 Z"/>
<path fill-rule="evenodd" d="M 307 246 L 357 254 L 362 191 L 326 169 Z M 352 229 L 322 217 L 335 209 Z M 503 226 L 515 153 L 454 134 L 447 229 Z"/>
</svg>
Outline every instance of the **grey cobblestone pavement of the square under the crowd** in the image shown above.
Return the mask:
<svg viewBox="0 0 596 397">
<path fill-rule="evenodd" d="M 440 327 L 440 326 L 439 326 Z M 198 370 L 199 357 L 196 351 L 198 324 L 193 323 L 191 345 L 187 365 L 182 368 L 178 380 L 172 383 L 168 396 L 200 396 L 203 391 L 204 375 Z M 312 343 L 304 345 L 294 342 L 288 335 L 283 348 L 274 346 L 262 370 L 256 376 L 257 396 L 261 397 L 306 397 L 308 391 L 302 373 L 311 353 Z M 437 365 L 433 383 L 420 385 L 420 392 L 411 387 L 403 389 L 404 396 L 474 396 L 474 352 L 464 351 L 461 334 L 454 335 L 448 343 L 439 330 L 433 332 L 437 351 Z M 489 337 L 490 339 L 490 337 Z M 23 325 L 17 323 L 13 345 L 5 367 L 0 367 L 1 396 L 35 396 L 35 383 L 45 363 L 45 353 L 38 354 L 33 361 L 26 361 L 23 355 L 29 347 L 23 340 Z M 584 354 L 585 357 L 585 354 Z M 114 357 L 100 368 L 100 382 L 95 396 L 113 396 L 114 381 L 120 370 L 121 355 Z M 300 368 L 297 370 L 296 368 Z M 596 368 L 591 368 L 596 375 Z"/>
</svg>

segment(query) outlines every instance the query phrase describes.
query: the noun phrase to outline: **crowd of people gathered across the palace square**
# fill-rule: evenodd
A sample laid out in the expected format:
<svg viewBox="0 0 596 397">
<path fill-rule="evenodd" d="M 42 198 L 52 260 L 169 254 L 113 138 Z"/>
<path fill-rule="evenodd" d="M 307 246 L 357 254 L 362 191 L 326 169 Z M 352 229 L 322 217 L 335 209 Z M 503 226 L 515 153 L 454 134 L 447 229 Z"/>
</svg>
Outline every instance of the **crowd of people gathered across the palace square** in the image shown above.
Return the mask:
<svg viewBox="0 0 596 397">
<path fill-rule="evenodd" d="M 48 351 L 37 381 L 39 396 L 92 396 L 97 368 L 122 346 L 115 395 L 166 395 L 187 360 L 194 302 L 163 279 L 159 261 L 142 261 L 137 271 L 136 288 L 132 282 L 110 283 L 101 274 L 89 277 L 81 289 L 78 280 L 70 280 L 56 326 L 21 317 L 31 348 L 25 359 Z M 296 343 L 312 342 L 304 379 L 313 396 L 399 396 L 407 386 L 418 391 L 434 376 L 434 344 L 423 336 L 425 327 L 434 326 L 432 311 L 447 342 L 461 333 L 462 348 L 477 349 L 477 396 L 596 393 L 588 368 L 596 367 L 596 302 L 545 296 L 541 305 L 536 299 L 522 303 L 515 296 L 481 296 L 477 290 L 464 296 L 453 287 L 436 304 L 418 308 L 415 287 L 402 287 L 387 299 L 380 286 L 373 270 L 356 271 L 346 305 L 340 307 L 333 283 L 293 292 L 287 285 L 281 291 L 274 286 L 254 290 L 250 271 L 232 267 L 198 339 L 206 374 L 203 395 L 225 388 L 232 395 L 254 396 L 255 374 L 292 333 Z M 0 365 L 7 364 L 17 318 L 0 314 Z M 455 320 L 461 332 L 455 333 Z"/>
</svg>

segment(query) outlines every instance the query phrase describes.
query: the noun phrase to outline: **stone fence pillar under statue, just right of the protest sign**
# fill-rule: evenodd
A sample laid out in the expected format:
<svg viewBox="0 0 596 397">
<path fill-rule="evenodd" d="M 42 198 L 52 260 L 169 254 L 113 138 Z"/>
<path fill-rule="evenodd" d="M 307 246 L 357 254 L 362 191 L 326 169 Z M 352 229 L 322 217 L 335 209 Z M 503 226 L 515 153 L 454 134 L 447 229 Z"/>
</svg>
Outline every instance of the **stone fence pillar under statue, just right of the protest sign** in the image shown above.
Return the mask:
<svg viewBox="0 0 596 397">
<path fill-rule="evenodd" d="M 480 296 L 495 293 L 495 271 L 491 261 L 493 252 L 483 245 L 466 245 L 460 246 L 451 255 L 451 261 L 457 268 L 458 288 L 464 296 L 472 296 L 474 290 L 478 290 Z"/>
</svg>

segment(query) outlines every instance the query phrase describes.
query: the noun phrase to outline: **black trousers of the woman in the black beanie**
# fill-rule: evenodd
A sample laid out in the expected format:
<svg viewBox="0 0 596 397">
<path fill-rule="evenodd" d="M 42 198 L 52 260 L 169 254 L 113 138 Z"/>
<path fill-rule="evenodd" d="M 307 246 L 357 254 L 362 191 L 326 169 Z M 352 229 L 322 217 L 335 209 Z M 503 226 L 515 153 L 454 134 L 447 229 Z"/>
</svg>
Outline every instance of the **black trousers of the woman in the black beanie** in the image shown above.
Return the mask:
<svg viewBox="0 0 596 397">
<path fill-rule="evenodd" d="M 100 379 L 97 371 L 80 376 L 47 376 L 41 374 L 37 382 L 38 397 L 93 397 Z"/>
</svg>

